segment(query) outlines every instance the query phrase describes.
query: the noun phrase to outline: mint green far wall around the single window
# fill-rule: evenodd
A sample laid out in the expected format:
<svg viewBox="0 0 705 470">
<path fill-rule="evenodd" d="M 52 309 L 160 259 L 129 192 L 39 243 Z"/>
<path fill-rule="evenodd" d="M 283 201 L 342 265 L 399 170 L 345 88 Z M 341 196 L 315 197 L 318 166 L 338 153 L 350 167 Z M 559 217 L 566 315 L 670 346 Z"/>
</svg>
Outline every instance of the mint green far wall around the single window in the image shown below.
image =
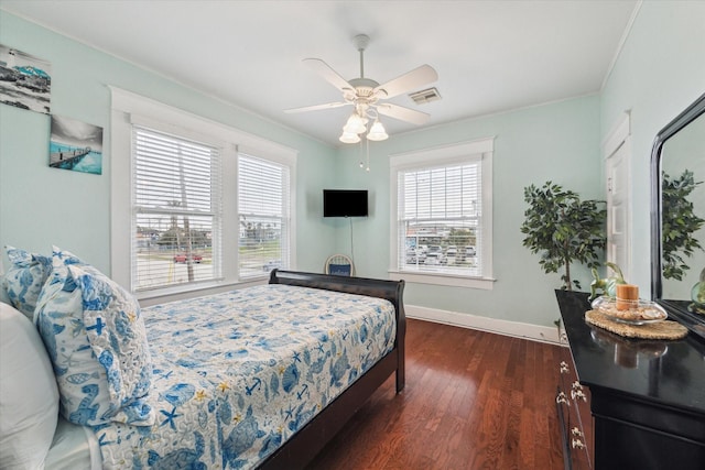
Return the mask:
<svg viewBox="0 0 705 470">
<path fill-rule="evenodd" d="M 386 277 L 389 267 L 388 155 L 496 135 L 494 154 L 492 291 L 408 284 L 409 305 L 551 326 L 558 316 L 553 289 L 560 275 L 545 275 L 538 255 L 521 243 L 519 228 L 525 204 L 523 188 L 553 181 L 585 198 L 600 197 L 599 97 L 521 109 L 392 135 L 370 143 L 370 172 L 358 167 L 356 145 L 340 151 L 341 186 L 369 188 L 375 206 L 369 219 L 355 219 L 355 254 L 359 275 Z M 349 233 L 344 234 L 349 240 Z M 349 243 L 349 241 L 348 241 Z M 581 274 L 583 285 L 590 276 Z"/>
</svg>

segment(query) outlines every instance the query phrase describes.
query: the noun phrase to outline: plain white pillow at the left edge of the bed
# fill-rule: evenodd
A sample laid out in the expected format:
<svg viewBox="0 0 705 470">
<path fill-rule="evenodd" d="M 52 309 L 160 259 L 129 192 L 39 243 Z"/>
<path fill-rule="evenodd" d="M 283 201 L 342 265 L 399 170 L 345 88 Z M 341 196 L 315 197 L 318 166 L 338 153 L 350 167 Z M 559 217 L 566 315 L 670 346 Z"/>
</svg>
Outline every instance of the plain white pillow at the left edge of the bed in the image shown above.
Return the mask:
<svg viewBox="0 0 705 470">
<path fill-rule="evenodd" d="M 43 469 L 58 418 L 58 390 L 39 332 L 0 303 L 0 468 Z"/>
</svg>

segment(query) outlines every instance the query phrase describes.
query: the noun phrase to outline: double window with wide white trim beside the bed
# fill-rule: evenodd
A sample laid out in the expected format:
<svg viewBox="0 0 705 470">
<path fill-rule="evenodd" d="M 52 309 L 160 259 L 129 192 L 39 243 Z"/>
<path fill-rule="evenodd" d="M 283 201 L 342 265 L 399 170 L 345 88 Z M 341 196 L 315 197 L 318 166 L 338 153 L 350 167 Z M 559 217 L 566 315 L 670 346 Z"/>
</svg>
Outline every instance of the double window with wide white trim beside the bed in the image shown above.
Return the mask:
<svg viewBox="0 0 705 470">
<path fill-rule="evenodd" d="M 111 95 L 113 280 L 164 302 L 295 267 L 294 150 L 119 88 Z"/>
</svg>

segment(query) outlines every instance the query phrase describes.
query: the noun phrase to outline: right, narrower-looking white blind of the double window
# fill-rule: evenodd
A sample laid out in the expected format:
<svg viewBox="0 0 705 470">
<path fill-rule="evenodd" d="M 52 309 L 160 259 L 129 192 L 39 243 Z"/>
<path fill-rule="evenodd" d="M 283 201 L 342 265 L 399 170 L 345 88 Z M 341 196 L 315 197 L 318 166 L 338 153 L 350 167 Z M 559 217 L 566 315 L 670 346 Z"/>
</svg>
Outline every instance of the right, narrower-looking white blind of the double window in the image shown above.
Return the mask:
<svg viewBox="0 0 705 470">
<path fill-rule="evenodd" d="M 238 154 L 239 276 L 290 265 L 290 168 Z"/>
</svg>

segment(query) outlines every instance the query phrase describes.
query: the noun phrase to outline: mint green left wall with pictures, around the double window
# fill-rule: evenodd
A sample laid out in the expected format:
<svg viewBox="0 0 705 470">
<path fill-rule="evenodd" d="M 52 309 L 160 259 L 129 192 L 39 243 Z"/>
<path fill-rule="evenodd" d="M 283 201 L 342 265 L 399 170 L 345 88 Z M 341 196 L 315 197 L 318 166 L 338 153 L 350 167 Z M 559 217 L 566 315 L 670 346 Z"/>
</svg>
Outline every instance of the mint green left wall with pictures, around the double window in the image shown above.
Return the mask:
<svg viewBox="0 0 705 470">
<path fill-rule="evenodd" d="M 116 156 L 107 85 L 113 85 L 299 150 L 297 267 L 319 271 L 334 250 L 335 227 L 322 221 L 319 199 L 334 173 L 335 149 L 4 11 L 0 43 L 51 62 L 52 113 L 105 130 L 102 175 L 54 170 L 47 166 L 50 117 L 0 105 L 0 245 L 47 253 L 57 244 L 109 272 Z"/>
</svg>

